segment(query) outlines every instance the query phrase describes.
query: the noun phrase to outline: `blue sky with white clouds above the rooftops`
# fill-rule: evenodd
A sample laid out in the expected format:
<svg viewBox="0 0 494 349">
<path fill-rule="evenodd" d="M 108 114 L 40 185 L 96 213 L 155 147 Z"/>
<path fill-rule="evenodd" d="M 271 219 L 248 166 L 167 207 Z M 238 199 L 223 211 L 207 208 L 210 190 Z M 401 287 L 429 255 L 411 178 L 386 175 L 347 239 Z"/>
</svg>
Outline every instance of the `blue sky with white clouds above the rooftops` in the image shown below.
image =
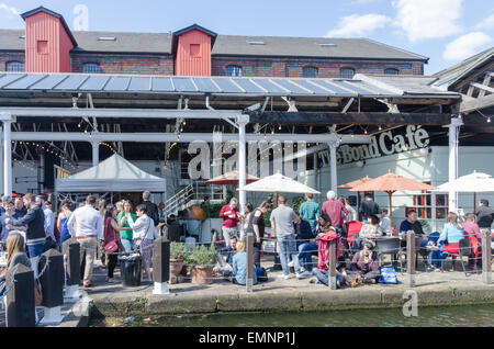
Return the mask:
<svg viewBox="0 0 494 349">
<path fill-rule="evenodd" d="M 494 2 L 485 0 L 0 0 L 0 27 L 23 29 L 19 13 L 40 4 L 72 30 L 83 25 L 75 23 L 83 4 L 90 31 L 168 32 L 198 23 L 218 34 L 369 37 L 429 57 L 425 74 L 494 45 Z"/>
</svg>

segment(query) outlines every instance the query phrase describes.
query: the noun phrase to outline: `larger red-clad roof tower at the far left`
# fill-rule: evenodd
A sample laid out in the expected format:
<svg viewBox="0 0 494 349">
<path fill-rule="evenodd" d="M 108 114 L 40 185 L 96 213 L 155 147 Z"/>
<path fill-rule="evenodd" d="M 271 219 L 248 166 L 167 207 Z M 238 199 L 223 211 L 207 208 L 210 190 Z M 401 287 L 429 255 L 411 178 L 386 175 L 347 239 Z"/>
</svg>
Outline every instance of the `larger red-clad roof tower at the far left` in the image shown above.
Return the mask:
<svg viewBox="0 0 494 349">
<path fill-rule="evenodd" d="M 77 42 L 64 16 L 43 7 L 21 16 L 25 21 L 25 71 L 70 72 L 70 49 Z"/>
</svg>

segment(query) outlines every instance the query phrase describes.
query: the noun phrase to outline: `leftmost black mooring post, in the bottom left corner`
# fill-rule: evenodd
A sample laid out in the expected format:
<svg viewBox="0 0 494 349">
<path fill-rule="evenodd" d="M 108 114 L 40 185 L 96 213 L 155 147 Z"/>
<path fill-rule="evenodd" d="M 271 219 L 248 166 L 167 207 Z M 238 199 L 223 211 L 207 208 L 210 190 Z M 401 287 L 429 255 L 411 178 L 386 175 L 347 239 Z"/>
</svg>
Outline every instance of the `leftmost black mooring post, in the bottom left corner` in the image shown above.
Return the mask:
<svg viewBox="0 0 494 349">
<path fill-rule="evenodd" d="M 5 285 L 7 327 L 34 327 L 34 271 L 19 263 L 7 271 Z"/>
</svg>

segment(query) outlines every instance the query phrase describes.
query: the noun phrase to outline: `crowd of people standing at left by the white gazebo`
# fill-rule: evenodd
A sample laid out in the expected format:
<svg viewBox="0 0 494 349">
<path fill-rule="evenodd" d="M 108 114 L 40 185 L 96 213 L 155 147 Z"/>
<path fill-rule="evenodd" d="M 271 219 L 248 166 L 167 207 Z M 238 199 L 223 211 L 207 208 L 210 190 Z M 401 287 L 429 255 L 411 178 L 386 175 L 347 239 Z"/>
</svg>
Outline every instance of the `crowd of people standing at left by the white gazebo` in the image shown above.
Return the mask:
<svg viewBox="0 0 494 349">
<path fill-rule="evenodd" d="M 142 256 L 143 280 L 151 280 L 150 267 L 153 240 L 159 237 L 160 210 L 150 202 L 150 193 L 145 191 L 143 201 L 135 210 L 128 200 L 115 205 L 104 199 L 88 195 L 79 207 L 64 200 L 57 215 L 52 203 L 44 195 L 25 194 L 14 201 L 2 198 L 0 216 L 0 244 L 7 251 L 7 271 L 14 261 L 32 267 L 37 275 L 40 256 L 61 245 L 69 238 L 80 244 L 81 279 L 83 288 L 91 288 L 94 260 L 100 252 L 101 261 L 108 269 L 108 282 L 120 282 L 114 278 L 120 252 L 138 251 Z M 22 248 L 20 247 L 22 246 Z M 21 257 L 18 254 L 24 254 Z"/>
</svg>

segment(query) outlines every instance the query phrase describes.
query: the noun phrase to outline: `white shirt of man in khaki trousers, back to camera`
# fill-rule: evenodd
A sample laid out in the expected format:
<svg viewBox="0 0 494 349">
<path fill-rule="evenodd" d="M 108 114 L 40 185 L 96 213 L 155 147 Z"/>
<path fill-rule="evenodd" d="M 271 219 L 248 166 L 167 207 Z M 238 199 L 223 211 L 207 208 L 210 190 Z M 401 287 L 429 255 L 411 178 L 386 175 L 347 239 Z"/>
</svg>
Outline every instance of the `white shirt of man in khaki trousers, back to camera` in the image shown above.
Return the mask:
<svg viewBox="0 0 494 349">
<path fill-rule="evenodd" d="M 76 230 L 74 230 L 74 222 L 76 222 Z M 103 218 L 93 206 L 85 205 L 74 211 L 67 221 L 67 228 L 74 237 L 96 235 L 100 239 L 103 236 Z"/>
</svg>

